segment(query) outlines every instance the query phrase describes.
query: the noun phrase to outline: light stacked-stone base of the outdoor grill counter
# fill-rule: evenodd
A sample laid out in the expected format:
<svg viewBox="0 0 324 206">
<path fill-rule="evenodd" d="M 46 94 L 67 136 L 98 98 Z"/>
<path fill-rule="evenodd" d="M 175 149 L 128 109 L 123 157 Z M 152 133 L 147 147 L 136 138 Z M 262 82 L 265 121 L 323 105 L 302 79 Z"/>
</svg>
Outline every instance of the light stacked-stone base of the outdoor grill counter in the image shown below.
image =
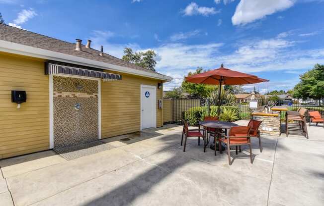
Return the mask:
<svg viewBox="0 0 324 206">
<path fill-rule="evenodd" d="M 280 117 L 253 115 L 253 119 L 262 121 L 259 130 L 260 135 L 280 136 Z"/>
</svg>

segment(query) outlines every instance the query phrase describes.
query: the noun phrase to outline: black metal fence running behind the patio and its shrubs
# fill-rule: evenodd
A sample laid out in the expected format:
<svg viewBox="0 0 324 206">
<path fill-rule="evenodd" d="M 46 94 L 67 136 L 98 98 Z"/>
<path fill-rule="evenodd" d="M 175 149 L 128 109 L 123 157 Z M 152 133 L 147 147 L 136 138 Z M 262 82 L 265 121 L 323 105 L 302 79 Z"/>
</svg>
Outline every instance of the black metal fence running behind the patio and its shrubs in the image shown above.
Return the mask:
<svg viewBox="0 0 324 206">
<path fill-rule="evenodd" d="M 217 105 L 211 104 L 208 99 L 172 99 L 171 100 L 171 123 L 182 124 L 182 119 L 189 121 L 191 125 L 197 125 L 199 120 L 203 120 L 204 116 L 217 116 Z M 258 99 L 257 106 L 287 106 L 288 110 L 297 110 L 300 107 L 308 109 L 308 111 L 319 111 L 324 115 L 324 105 L 319 101 L 302 101 L 279 99 L 275 101 Z M 221 114 L 224 110 L 230 108 L 234 110 L 237 119 L 251 119 L 253 110 L 250 108 L 250 100 L 238 101 L 231 105 L 221 105 Z M 281 112 L 281 118 L 285 118 L 285 112 Z"/>
</svg>

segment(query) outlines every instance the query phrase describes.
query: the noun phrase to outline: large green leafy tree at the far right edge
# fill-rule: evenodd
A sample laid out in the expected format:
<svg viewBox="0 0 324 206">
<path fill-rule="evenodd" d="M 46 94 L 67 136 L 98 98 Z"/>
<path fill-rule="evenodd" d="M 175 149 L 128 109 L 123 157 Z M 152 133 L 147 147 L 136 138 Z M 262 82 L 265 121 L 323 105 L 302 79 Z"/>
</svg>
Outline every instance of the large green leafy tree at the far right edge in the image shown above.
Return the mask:
<svg viewBox="0 0 324 206">
<path fill-rule="evenodd" d="M 316 64 L 313 69 L 300 75 L 300 82 L 293 90 L 294 98 L 322 100 L 324 98 L 324 65 Z"/>
</svg>

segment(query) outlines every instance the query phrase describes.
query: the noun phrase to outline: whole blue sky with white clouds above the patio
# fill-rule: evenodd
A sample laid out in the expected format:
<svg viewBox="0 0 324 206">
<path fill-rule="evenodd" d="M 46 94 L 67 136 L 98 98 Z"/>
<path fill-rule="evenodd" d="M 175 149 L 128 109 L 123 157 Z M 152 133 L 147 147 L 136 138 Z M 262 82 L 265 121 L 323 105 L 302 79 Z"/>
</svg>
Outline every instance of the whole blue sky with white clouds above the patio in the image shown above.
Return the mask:
<svg viewBox="0 0 324 206">
<path fill-rule="evenodd" d="M 155 50 L 157 71 L 174 78 L 165 90 L 197 66 L 221 63 L 269 79 L 268 90 L 293 88 L 324 64 L 323 11 L 324 0 L 0 0 L 9 25 L 90 39 L 117 57 L 125 47 Z"/>
</svg>

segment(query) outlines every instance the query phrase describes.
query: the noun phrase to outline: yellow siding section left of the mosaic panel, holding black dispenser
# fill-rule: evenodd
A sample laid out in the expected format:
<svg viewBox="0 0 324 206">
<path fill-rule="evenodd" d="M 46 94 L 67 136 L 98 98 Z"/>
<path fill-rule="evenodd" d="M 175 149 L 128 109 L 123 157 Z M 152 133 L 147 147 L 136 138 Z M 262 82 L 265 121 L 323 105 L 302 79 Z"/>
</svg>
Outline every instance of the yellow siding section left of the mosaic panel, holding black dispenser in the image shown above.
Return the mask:
<svg viewBox="0 0 324 206">
<path fill-rule="evenodd" d="M 18 109 L 11 90 L 24 90 Z M 0 158 L 49 149 L 49 79 L 44 62 L 0 53 Z"/>
</svg>

